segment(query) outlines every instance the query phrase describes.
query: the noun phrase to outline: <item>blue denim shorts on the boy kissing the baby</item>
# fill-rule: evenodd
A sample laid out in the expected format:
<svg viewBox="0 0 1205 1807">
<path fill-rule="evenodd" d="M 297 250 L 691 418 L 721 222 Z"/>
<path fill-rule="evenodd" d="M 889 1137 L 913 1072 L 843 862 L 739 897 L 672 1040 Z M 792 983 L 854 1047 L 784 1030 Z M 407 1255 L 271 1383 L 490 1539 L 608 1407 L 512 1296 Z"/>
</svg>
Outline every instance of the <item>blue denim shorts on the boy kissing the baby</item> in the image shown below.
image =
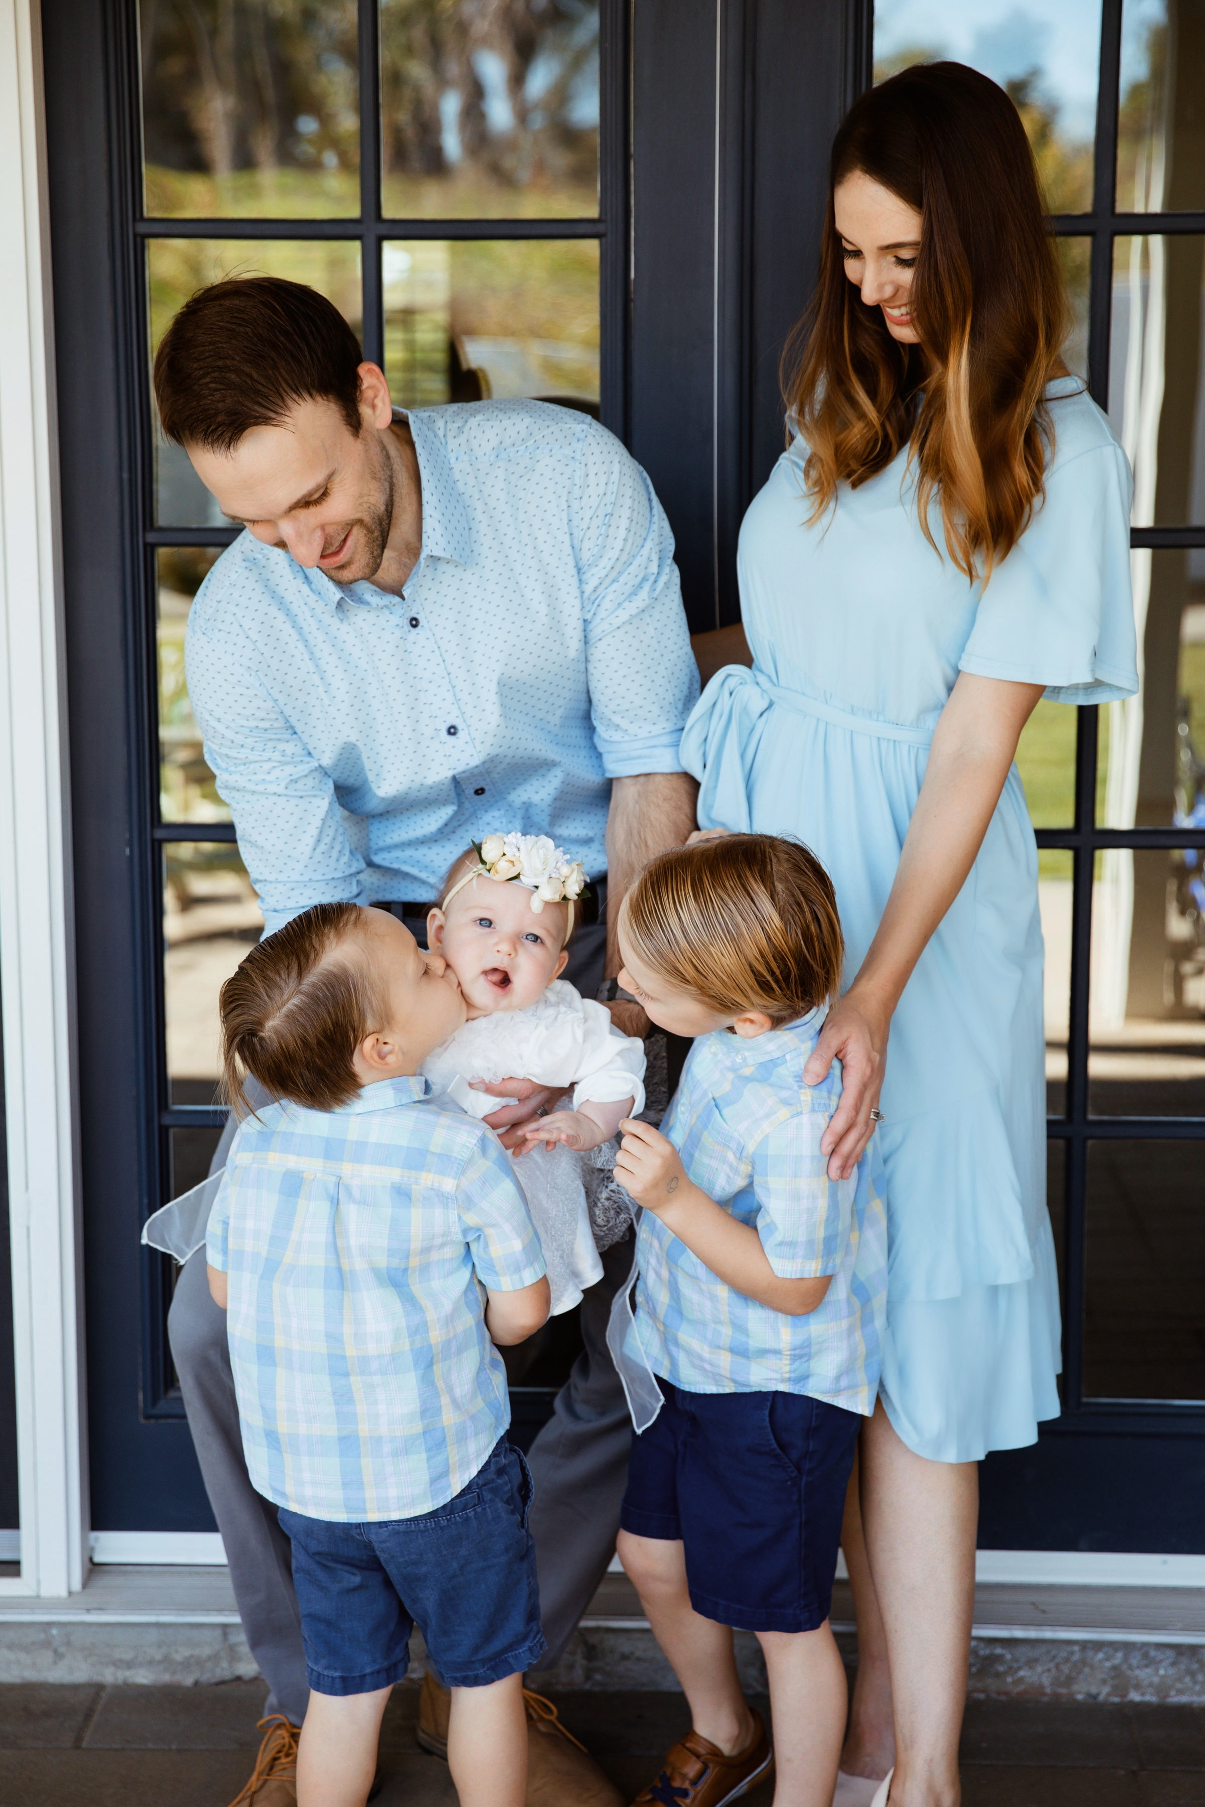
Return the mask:
<svg viewBox="0 0 1205 1807">
<path fill-rule="evenodd" d="M 316 1693 L 403 1681 L 419 1626 L 448 1688 L 484 1688 L 544 1650 L 531 1471 L 502 1438 L 466 1487 L 419 1518 L 332 1523 L 280 1507 Z"/>
</svg>

